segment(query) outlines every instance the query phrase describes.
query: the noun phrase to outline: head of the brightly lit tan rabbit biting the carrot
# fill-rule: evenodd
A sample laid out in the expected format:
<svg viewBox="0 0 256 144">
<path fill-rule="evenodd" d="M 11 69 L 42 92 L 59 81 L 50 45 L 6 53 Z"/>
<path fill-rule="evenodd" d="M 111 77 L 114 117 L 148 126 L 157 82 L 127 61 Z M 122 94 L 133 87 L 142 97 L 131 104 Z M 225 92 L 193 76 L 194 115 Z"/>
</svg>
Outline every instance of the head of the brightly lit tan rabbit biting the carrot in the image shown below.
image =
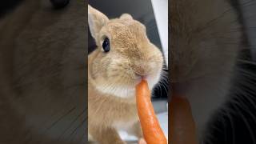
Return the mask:
<svg viewBox="0 0 256 144">
<path fill-rule="evenodd" d="M 90 11 L 94 9 L 89 10 L 89 17 Z M 90 27 L 91 33 L 98 31 L 92 34 L 98 48 L 92 54 L 94 60 L 89 71 L 97 83 L 95 87 L 105 94 L 133 97 L 136 84 L 145 78 L 152 89 L 160 78 L 163 58 L 161 51 L 147 38 L 145 26 L 129 14 L 112 20 L 106 16 L 98 19 L 104 18 L 102 24 L 95 18 L 91 20 L 102 26 L 98 30 Z"/>
</svg>

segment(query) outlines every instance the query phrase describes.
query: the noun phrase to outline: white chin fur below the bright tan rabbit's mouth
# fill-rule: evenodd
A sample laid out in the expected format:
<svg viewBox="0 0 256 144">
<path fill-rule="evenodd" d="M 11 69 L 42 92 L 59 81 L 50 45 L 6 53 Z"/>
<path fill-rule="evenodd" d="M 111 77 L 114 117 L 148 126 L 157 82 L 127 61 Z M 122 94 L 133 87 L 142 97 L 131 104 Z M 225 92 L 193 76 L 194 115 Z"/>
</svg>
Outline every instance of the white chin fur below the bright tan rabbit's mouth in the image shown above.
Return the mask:
<svg viewBox="0 0 256 144">
<path fill-rule="evenodd" d="M 149 88 L 150 90 L 152 90 L 154 88 L 154 86 L 158 83 L 159 79 L 160 79 L 160 73 L 157 74 L 157 76 L 155 75 L 150 75 L 146 78 L 146 81 L 148 82 Z M 106 95 L 111 95 L 111 96 L 115 96 L 118 98 L 134 98 L 135 96 L 135 86 L 142 80 L 142 78 L 139 78 L 137 80 L 135 80 L 134 85 L 130 85 L 130 86 L 121 86 L 121 85 L 113 85 L 111 86 L 111 84 L 108 82 L 106 82 L 106 84 L 101 83 L 100 85 L 96 86 L 96 89 L 100 92 L 102 92 L 103 94 Z"/>
</svg>

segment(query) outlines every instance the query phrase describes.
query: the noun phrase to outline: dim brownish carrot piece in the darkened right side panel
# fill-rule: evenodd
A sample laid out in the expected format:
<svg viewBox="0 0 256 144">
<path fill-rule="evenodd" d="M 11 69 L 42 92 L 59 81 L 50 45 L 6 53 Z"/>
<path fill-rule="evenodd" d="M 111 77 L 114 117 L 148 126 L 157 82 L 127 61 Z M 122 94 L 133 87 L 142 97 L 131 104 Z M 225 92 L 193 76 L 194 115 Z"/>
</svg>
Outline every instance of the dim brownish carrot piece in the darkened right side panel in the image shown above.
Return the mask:
<svg viewBox="0 0 256 144">
<path fill-rule="evenodd" d="M 187 99 L 173 94 L 169 108 L 170 142 L 172 144 L 197 144 L 196 126 Z"/>
</svg>

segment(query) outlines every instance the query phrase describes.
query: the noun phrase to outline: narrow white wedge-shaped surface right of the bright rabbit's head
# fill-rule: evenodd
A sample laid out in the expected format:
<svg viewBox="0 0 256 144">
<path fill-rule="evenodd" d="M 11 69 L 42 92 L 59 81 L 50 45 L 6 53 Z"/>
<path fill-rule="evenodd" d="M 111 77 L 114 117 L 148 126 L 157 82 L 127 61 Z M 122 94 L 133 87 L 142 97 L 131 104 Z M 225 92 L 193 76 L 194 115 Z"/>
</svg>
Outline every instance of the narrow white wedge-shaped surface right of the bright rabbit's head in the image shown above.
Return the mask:
<svg viewBox="0 0 256 144">
<path fill-rule="evenodd" d="M 168 0 L 151 0 L 158 33 L 168 66 Z"/>
</svg>

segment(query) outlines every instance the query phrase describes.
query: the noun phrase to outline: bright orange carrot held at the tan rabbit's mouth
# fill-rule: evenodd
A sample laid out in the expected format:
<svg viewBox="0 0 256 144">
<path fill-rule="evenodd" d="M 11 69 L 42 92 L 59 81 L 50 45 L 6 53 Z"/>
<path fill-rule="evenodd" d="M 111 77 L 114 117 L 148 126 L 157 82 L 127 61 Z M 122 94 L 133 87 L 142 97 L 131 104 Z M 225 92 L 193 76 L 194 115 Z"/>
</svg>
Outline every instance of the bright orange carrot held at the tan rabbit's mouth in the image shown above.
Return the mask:
<svg viewBox="0 0 256 144">
<path fill-rule="evenodd" d="M 166 137 L 154 114 L 154 108 L 150 100 L 150 90 L 144 79 L 136 86 L 136 102 L 138 117 L 146 143 L 167 144 Z"/>
</svg>

